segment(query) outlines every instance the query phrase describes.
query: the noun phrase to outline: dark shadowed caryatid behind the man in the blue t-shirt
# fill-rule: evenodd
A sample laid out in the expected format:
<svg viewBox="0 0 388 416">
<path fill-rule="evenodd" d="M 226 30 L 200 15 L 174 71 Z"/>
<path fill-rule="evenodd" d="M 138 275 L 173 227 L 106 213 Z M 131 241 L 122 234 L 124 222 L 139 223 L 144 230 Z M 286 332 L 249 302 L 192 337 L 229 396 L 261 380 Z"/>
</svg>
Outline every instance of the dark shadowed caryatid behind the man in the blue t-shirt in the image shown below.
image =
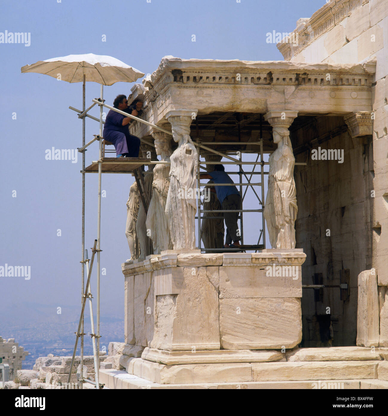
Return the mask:
<svg viewBox="0 0 388 416">
<path fill-rule="evenodd" d="M 205 161 L 221 161 L 222 156 L 216 154 L 205 155 Z M 206 165 L 210 171 L 214 170 L 214 165 Z M 209 181 L 209 184 L 214 183 Z M 207 188 L 207 189 L 206 189 Z M 210 192 L 211 186 L 206 186 L 206 191 L 208 191 L 209 201 L 204 200 L 204 210 L 219 210 L 222 209 L 220 201 L 217 199 L 217 196 L 214 192 Z M 205 194 L 206 195 L 206 194 Z M 223 246 L 223 237 L 225 233 L 225 228 L 223 226 L 223 213 L 209 212 L 206 213 L 206 217 L 213 218 L 204 218 L 201 223 L 201 235 L 202 241 L 204 242 L 205 248 L 219 248 Z M 219 218 L 221 217 L 221 218 Z"/>
</svg>

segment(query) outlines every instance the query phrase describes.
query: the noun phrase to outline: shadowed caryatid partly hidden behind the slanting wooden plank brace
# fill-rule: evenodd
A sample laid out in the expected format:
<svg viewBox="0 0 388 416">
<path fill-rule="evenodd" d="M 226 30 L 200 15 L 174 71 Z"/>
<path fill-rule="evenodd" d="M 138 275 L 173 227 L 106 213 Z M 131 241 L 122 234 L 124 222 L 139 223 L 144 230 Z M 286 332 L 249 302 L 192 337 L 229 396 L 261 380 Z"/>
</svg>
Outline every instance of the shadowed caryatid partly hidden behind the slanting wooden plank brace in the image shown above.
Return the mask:
<svg viewBox="0 0 388 416">
<path fill-rule="evenodd" d="M 157 160 L 155 149 L 152 146 L 142 144 L 140 146 L 140 151 L 142 152 L 143 158 L 148 158 L 152 161 Z M 147 172 L 150 173 L 146 173 L 144 178 L 145 192 L 147 192 L 149 198 L 151 198 L 152 181 L 154 179 L 152 171 L 154 167 L 155 165 L 148 166 Z M 140 255 L 138 257 L 138 260 L 145 260 L 146 256 L 153 254 L 152 241 L 150 240 L 150 237 L 147 235 L 147 227 L 145 224 L 146 218 L 147 214 L 145 213 L 145 209 L 140 198 L 138 220 L 136 222 L 136 236 L 139 239 L 140 243 Z"/>
</svg>

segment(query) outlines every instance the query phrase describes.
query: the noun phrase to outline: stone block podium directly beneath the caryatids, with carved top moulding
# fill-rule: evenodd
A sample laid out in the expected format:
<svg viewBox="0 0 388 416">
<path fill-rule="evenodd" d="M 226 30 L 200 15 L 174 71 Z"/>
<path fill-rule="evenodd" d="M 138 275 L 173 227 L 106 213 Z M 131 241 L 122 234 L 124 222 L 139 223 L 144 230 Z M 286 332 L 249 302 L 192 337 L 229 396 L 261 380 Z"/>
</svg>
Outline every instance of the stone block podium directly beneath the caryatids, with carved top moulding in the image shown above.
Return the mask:
<svg viewBox="0 0 388 416">
<path fill-rule="evenodd" d="M 166 250 L 122 264 L 125 343 L 165 351 L 290 349 L 302 339 L 302 249 Z"/>
</svg>

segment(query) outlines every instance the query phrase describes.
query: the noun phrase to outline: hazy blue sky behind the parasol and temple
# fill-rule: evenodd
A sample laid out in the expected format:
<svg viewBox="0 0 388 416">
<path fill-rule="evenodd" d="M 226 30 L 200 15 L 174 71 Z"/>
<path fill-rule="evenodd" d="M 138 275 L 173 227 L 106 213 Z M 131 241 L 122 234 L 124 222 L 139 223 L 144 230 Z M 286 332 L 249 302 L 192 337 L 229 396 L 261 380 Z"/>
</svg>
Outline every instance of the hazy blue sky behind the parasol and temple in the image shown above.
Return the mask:
<svg viewBox="0 0 388 416">
<path fill-rule="evenodd" d="M 84 53 L 111 55 L 145 74 L 153 72 L 165 55 L 282 60 L 276 45 L 266 43 L 265 34 L 290 32 L 299 18 L 310 17 L 323 5 L 324 0 L 2 2 L 0 32 L 30 32 L 31 44 L 0 44 L 0 266 L 30 266 L 31 278 L 0 277 L 0 322 L 36 319 L 26 306 L 29 302 L 46 305 L 46 316 L 39 315 L 42 322 L 58 319 L 57 307 L 66 322 L 81 295 L 81 154 L 77 163 L 48 161 L 45 150 L 81 146 L 82 122 L 68 107 L 81 108 L 82 84 L 22 74 L 22 66 Z M 105 87 L 106 102 L 128 94 L 132 85 Z M 99 91 L 99 84 L 86 84 L 86 106 Z M 98 109 L 91 114 L 97 115 Z M 86 119 L 86 141 L 92 134 L 98 134 L 98 123 Z M 97 145 L 89 149 L 86 166 L 98 155 Z M 97 181 L 97 175 L 86 175 L 86 248 L 97 233 Z M 101 267 L 106 276 L 101 276 L 101 316 L 124 315 L 120 265 L 130 257 L 125 203 L 132 182 L 130 175 L 103 175 Z M 0 335 L 7 336 L 1 333 L 1 324 Z"/>
</svg>

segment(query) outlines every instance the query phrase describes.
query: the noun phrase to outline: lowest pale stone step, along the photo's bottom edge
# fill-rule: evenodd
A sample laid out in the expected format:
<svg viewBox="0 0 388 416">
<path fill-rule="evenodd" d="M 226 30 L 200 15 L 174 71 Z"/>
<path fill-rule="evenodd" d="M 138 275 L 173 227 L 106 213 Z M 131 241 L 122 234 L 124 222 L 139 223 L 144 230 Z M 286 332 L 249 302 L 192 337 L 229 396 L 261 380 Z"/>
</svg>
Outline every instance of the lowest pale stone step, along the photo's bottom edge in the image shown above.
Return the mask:
<svg viewBox="0 0 388 416">
<path fill-rule="evenodd" d="M 377 379 L 158 384 L 119 370 L 100 370 L 100 380 L 109 389 L 388 389 L 388 381 Z"/>
</svg>

